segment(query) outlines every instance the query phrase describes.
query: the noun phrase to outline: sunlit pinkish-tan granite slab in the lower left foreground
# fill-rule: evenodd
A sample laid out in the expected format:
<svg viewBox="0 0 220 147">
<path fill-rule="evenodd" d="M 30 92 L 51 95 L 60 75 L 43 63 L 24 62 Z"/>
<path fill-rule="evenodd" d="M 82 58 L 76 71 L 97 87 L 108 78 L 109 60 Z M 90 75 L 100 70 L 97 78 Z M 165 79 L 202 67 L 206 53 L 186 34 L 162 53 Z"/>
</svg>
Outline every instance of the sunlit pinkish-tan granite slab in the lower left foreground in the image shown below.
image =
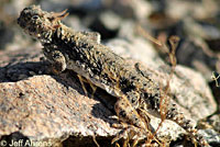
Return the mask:
<svg viewBox="0 0 220 147">
<path fill-rule="evenodd" d="M 51 76 L 1 83 L 0 98 L 1 135 L 20 132 L 35 140 L 63 138 L 65 134 L 66 137 L 116 135 L 108 120 L 111 112 L 100 101 Z"/>
</svg>

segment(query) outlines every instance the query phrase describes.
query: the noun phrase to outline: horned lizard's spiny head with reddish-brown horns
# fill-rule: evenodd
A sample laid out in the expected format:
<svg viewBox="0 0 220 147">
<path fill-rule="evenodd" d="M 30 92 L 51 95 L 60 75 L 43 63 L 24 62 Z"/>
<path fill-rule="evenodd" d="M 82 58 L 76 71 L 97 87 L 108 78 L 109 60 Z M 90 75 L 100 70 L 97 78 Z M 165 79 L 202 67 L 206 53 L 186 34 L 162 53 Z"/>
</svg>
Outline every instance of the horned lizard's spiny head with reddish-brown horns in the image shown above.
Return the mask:
<svg viewBox="0 0 220 147">
<path fill-rule="evenodd" d="M 61 20 L 68 15 L 63 12 L 46 12 L 40 5 L 31 5 L 22 10 L 18 24 L 31 36 L 47 39 L 48 33 L 61 26 Z"/>
</svg>

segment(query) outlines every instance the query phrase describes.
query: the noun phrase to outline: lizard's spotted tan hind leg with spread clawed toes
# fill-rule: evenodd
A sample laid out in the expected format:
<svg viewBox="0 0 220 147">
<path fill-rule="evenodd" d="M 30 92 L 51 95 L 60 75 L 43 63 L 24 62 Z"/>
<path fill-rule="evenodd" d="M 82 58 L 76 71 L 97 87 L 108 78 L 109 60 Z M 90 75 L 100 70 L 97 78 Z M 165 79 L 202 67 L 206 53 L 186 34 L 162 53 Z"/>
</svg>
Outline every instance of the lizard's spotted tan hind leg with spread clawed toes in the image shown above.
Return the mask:
<svg viewBox="0 0 220 147">
<path fill-rule="evenodd" d="M 121 124 L 113 124 L 112 126 L 121 127 L 123 131 L 112 139 L 112 144 L 121 138 L 125 138 L 125 144 L 129 144 L 129 140 L 132 139 L 132 146 L 136 146 L 140 140 L 148 135 L 148 129 L 144 120 L 124 95 L 117 101 L 114 110 Z"/>
</svg>

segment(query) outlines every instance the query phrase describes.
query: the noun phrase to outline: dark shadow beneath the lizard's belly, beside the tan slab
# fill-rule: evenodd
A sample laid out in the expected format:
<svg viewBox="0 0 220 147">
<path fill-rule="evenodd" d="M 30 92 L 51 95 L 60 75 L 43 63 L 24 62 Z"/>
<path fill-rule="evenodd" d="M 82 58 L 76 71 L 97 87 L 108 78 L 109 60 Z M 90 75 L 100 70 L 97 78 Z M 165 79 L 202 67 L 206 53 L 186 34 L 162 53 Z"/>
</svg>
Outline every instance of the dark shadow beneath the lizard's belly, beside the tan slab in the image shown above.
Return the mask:
<svg viewBox="0 0 220 147">
<path fill-rule="evenodd" d="M 98 101 L 98 103 L 92 105 L 92 110 L 90 112 L 94 117 L 101 118 L 110 125 L 117 123 L 116 120 L 110 117 L 112 115 L 116 115 L 114 103 L 117 101 L 117 98 L 108 94 L 105 90 L 100 88 L 97 88 L 95 94 L 92 95 L 92 89 L 90 88 L 90 86 L 88 83 L 84 83 L 88 92 L 88 95 L 86 95 L 82 86 L 77 77 L 77 74 L 68 69 L 59 76 L 53 76 L 53 78 L 66 88 L 70 87 L 79 94 Z"/>
</svg>

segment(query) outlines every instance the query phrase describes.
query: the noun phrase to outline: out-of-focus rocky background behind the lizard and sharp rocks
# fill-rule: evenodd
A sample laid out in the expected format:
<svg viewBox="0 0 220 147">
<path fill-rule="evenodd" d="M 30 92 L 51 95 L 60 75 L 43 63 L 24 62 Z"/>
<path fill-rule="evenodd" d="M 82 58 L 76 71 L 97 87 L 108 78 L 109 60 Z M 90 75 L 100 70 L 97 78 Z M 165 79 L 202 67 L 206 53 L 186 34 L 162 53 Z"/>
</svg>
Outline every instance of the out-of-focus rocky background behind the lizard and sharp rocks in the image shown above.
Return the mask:
<svg viewBox="0 0 220 147">
<path fill-rule="evenodd" d="M 1 0 L 0 55 L 38 44 L 16 24 L 21 10 L 30 4 L 55 12 L 68 9 L 65 24 L 78 31 L 99 32 L 103 42 L 132 39 L 145 33 L 167 42 L 177 35 L 177 64 L 200 71 L 215 97 L 220 98 L 220 90 L 211 80 L 213 71 L 216 76 L 220 72 L 219 0 Z M 166 53 L 155 49 L 166 60 Z"/>
</svg>

